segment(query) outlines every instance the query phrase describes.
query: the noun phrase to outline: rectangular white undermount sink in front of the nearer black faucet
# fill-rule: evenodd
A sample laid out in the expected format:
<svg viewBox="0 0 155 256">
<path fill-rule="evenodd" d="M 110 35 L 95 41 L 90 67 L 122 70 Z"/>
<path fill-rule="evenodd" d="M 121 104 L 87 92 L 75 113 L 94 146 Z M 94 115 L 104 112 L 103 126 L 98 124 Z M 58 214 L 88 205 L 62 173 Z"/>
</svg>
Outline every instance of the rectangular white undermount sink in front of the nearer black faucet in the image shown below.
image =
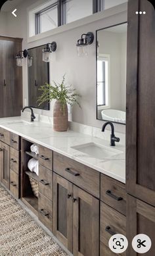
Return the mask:
<svg viewBox="0 0 155 256">
<path fill-rule="evenodd" d="M 97 159 L 108 159 L 109 157 L 123 153 L 118 149 L 112 149 L 112 147 L 106 147 L 94 142 L 76 145 L 72 149 L 76 149 Z"/>
</svg>

